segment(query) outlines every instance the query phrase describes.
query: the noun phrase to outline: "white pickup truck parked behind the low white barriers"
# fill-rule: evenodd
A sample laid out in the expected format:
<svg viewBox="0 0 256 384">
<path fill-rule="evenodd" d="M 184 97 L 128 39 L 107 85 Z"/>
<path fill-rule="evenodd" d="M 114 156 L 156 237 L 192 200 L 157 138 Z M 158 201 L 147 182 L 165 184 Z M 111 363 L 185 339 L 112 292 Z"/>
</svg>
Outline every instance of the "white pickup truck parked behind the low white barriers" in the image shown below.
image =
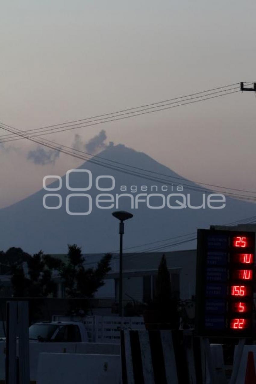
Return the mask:
<svg viewBox="0 0 256 384">
<path fill-rule="evenodd" d="M 31 342 L 88 343 L 87 330 L 77 321 L 42 321 L 29 328 Z"/>
</svg>

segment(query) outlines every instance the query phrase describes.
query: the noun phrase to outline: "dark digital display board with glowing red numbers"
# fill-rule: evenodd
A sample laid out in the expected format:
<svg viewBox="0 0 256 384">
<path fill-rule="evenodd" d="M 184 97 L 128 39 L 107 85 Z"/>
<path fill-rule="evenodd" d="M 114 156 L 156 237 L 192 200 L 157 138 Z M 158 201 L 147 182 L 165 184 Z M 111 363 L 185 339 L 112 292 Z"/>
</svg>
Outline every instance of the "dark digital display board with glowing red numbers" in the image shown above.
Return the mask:
<svg viewBox="0 0 256 384">
<path fill-rule="evenodd" d="M 252 336 L 254 248 L 254 232 L 198 230 L 198 336 Z"/>
</svg>

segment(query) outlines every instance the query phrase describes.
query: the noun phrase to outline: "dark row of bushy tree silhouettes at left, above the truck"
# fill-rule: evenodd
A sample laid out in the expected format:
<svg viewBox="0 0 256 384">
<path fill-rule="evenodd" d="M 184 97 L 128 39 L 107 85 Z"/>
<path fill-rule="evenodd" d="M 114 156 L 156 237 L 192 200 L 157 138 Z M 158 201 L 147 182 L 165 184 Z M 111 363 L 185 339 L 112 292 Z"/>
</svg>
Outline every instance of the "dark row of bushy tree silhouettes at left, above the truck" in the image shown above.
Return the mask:
<svg viewBox="0 0 256 384">
<path fill-rule="evenodd" d="M 107 253 L 95 268 L 86 268 L 82 250 L 76 244 L 68 245 L 64 260 L 41 250 L 34 255 L 15 247 L 0 251 L 1 275 L 11 275 L 13 297 L 54 297 L 59 276 L 65 297 L 92 298 L 104 284 L 110 260 L 111 254 Z"/>
</svg>

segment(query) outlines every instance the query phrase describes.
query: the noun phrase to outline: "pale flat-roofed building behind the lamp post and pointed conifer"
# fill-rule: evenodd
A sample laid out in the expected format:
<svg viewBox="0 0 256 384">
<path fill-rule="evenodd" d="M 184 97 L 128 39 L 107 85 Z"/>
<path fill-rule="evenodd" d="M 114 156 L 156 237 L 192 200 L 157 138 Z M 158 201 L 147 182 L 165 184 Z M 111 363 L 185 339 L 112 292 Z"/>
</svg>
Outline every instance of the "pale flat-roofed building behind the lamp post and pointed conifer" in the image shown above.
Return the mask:
<svg viewBox="0 0 256 384">
<path fill-rule="evenodd" d="M 195 295 L 196 250 L 165 252 L 170 272 L 172 291 L 181 300 Z M 145 302 L 153 298 L 155 279 L 163 252 L 126 253 L 123 255 L 123 298 Z M 115 262 L 106 280 L 113 280 L 113 297 L 118 300 L 119 261 Z M 103 293 L 103 288 L 98 295 Z"/>
</svg>

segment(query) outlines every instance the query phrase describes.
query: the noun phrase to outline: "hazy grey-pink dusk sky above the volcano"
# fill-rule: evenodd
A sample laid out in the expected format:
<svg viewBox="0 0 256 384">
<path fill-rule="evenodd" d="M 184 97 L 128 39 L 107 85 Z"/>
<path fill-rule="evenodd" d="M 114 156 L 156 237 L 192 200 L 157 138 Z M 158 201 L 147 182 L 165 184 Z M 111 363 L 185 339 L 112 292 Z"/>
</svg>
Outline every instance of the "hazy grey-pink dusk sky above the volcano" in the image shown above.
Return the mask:
<svg viewBox="0 0 256 384">
<path fill-rule="evenodd" d="M 255 0 L 1 0 L 0 121 L 25 131 L 256 81 L 255 11 Z M 104 130 L 191 180 L 256 191 L 255 118 L 244 92 L 47 138 L 88 144 Z M 38 151 L 0 144 L 0 207 L 82 162 L 38 164 Z"/>
</svg>

